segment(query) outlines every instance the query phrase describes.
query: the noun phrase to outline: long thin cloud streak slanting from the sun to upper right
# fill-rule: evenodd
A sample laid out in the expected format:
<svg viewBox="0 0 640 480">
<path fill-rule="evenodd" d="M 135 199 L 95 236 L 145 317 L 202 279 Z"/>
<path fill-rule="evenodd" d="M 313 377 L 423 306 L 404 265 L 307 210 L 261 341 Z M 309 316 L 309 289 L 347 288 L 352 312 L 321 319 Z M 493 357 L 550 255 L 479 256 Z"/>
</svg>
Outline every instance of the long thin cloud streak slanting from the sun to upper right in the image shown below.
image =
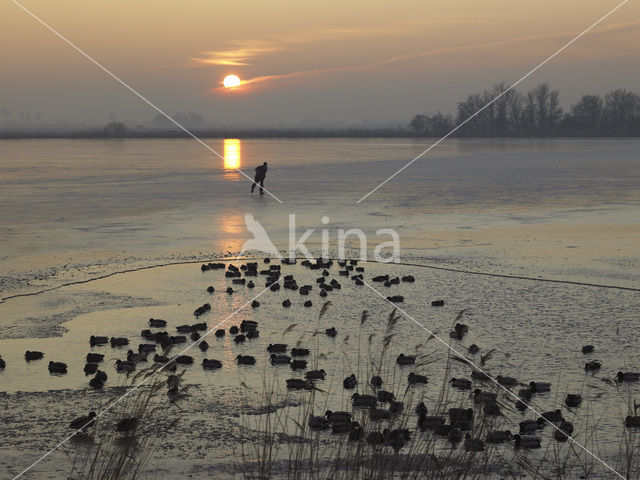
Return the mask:
<svg viewBox="0 0 640 480">
<path fill-rule="evenodd" d="M 639 28 L 640 28 L 640 20 L 634 20 L 631 22 L 622 22 L 622 23 L 616 23 L 612 25 L 605 25 L 603 27 L 594 29 L 590 35 L 591 36 L 608 35 L 611 33 L 637 31 Z M 394 63 L 407 62 L 410 60 L 420 59 L 420 58 L 434 56 L 434 55 L 470 52 L 474 50 L 482 50 L 482 49 L 491 48 L 491 47 L 503 47 L 503 46 L 514 45 L 518 43 L 530 43 L 535 40 L 539 41 L 539 40 L 563 39 L 575 34 L 576 32 L 562 32 L 562 33 L 548 33 L 548 34 L 542 34 L 542 35 L 527 35 L 524 37 L 517 37 L 509 40 L 485 42 L 485 43 L 479 43 L 475 45 L 461 45 L 458 47 L 443 47 L 443 48 L 437 48 L 437 49 L 431 49 L 431 50 L 423 50 L 420 52 L 414 52 L 414 53 L 409 53 L 405 55 L 396 55 L 396 56 L 389 57 L 376 62 L 370 62 L 370 63 L 364 63 L 364 64 L 318 68 L 313 70 L 301 70 L 296 72 L 274 74 L 274 75 L 261 75 L 261 76 L 242 80 L 241 87 L 245 85 L 252 85 L 252 84 L 264 83 L 269 81 L 285 80 L 285 79 L 303 77 L 308 75 L 320 75 L 320 74 L 326 74 L 326 73 L 367 70 L 367 69 L 379 68 L 379 67 L 391 65 Z M 217 87 L 212 89 L 213 92 L 222 91 L 222 90 L 225 90 L 225 88 Z"/>
</svg>

